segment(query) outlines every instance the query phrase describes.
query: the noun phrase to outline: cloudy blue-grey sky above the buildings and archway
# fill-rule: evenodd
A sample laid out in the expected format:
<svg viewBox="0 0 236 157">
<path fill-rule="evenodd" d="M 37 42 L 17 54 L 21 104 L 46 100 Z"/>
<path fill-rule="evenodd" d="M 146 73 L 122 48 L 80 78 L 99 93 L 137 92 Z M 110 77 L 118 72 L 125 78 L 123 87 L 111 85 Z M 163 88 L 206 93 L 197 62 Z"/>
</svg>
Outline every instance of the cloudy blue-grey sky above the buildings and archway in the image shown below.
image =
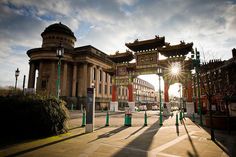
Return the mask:
<svg viewBox="0 0 236 157">
<path fill-rule="evenodd" d="M 58 22 L 74 32 L 76 47 L 92 45 L 107 54 L 155 35 L 171 45 L 193 42 L 201 61 L 227 60 L 236 47 L 235 0 L 1 0 L 0 87 L 14 86 L 17 68 L 22 87 L 27 50 L 41 47 L 41 33 Z"/>
</svg>

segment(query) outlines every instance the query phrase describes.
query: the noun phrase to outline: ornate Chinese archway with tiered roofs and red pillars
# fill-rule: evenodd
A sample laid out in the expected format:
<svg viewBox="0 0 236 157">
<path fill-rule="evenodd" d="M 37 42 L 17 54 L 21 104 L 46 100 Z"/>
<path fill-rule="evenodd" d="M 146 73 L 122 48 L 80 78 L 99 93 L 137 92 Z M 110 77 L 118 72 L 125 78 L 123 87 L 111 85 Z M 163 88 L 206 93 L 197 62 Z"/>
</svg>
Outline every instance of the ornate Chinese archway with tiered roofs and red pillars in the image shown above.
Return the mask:
<svg viewBox="0 0 236 157">
<path fill-rule="evenodd" d="M 105 69 L 107 73 L 113 76 L 111 110 L 118 110 L 117 86 L 127 86 L 128 105 L 131 110 L 134 110 L 133 79 L 139 75 L 147 74 L 157 74 L 159 78 L 160 76 L 163 77 L 164 103 L 169 103 L 169 86 L 173 83 L 181 83 L 184 101 L 186 104 L 193 106 L 192 60 L 186 57 L 189 52 L 193 51 L 193 43 L 180 41 L 178 45 L 170 45 L 165 42 L 165 37 L 155 36 L 154 39 L 143 41 L 136 39 L 133 43 L 126 43 L 125 45 L 134 54 L 127 50 L 124 53 L 117 52 L 114 55 L 110 55 L 109 58 L 115 64 L 111 69 Z M 165 56 L 166 59 L 160 60 L 160 54 Z M 136 61 L 130 63 L 133 59 Z M 176 75 L 171 73 L 173 66 L 179 66 L 180 68 L 180 72 Z"/>
</svg>

